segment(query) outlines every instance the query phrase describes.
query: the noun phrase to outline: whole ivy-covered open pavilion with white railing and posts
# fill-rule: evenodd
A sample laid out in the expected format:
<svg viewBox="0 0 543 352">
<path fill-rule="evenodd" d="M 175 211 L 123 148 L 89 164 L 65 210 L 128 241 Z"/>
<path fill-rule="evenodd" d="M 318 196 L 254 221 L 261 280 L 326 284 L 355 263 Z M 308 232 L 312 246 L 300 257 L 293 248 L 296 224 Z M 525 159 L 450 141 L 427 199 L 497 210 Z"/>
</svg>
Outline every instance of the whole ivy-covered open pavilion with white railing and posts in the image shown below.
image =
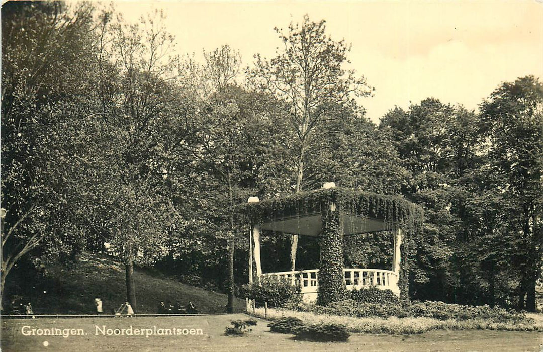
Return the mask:
<svg viewBox="0 0 543 352">
<path fill-rule="evenodd" d="M 400 196 L 348 190 L 325 183 L 320 190 L 291 194 L 287 197 L 260 200 L 250 197 L 240 210 L 251 227 L 249 281 L 256 276 L 282 276 L 300 285 L 305 300 L 320 304 L 339 301 L 346 290 L 375 286 L 391 290 L 398 296 L 407 294 L 405 273 L 407 250 L 402 243 L 406 234 L 420 228 L 422 210 Z M 263 273 L 260 256 L 262 231 L 318 237 L 319 268 Z M 390 270 L 345 268 L 343 238 L 372 232 L 393 232 L 393 257 Z"/>
</svg>

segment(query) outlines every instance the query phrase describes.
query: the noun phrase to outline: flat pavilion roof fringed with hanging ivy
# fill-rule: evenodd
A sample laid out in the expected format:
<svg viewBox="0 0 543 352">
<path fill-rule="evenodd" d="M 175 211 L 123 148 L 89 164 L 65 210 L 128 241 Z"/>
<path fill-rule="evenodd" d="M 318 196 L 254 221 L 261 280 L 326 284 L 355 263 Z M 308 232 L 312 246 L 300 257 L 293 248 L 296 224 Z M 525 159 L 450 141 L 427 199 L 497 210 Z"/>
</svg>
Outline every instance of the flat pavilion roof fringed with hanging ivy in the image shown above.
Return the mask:
<svg viewBox="0 0 543 352">
<path fill-rule="evenodd" d="M 344 235 L 387 231 L 396 226 L 413 228 L 422 223 L 422 209 L 401 196 L 339 187 L 245 203 L 238 206 L 238 212 L 259 223 L 262 230 L 318 236 L 323 211 L 331 203 L 339 211 Z"/>
</svg>

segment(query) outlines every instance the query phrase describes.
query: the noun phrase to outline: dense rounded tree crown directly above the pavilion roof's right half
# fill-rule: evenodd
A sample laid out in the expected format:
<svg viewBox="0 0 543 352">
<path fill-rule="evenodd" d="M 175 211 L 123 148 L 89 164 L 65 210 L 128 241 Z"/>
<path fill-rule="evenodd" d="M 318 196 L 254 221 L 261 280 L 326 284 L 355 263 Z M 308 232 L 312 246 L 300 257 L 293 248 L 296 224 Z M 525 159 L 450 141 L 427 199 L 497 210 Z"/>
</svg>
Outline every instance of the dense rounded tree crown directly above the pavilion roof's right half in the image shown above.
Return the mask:
<svg viewBox="0 0 543 352">
<path fill-rule="evenodd" d="M 317 188 L 327 180 L 358 190 L 397 194 L 407 179 L 385 129 L 343 107 L 315 129 L 308 150 L 304 184 Z"/>
</svg>

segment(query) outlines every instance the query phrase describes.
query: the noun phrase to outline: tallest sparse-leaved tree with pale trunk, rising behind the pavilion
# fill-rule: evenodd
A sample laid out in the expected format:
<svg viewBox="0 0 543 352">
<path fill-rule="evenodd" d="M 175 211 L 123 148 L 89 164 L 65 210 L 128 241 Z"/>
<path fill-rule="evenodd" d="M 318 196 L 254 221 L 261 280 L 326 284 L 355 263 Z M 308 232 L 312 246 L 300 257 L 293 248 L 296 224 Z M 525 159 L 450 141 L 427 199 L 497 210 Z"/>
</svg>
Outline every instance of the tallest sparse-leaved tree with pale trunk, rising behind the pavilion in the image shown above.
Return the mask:
<svg viewBox="0 0 543 352">
<path fill-rule="evenodd" d="M 297 141 L 295 192 L 302 191 L 308 141 L 330 110 L 352 103 L 352 97 L 369 95 L 363 78 L 345 70 L 350 47 L 326 35 L 325 21 L 312 22 L 304 16 L 300 24 L 290 24 L 287 33 L 275 28 L 283 50 L 271 60 L 256 56 L 250 73 L 254 83 L 270 92 L 288 116 Z M 298 236 L 291 236 L 291 267 L 294 270 Z"/>
</svg>

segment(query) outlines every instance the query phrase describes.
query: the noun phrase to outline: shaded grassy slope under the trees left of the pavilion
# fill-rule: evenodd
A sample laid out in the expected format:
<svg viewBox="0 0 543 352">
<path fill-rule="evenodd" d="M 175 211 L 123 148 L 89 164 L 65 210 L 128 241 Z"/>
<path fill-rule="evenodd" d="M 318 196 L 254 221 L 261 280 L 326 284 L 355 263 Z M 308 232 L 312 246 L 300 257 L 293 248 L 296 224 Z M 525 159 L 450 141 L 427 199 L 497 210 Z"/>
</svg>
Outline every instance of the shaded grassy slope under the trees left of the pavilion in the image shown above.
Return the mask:
<svg viewBox="0 0 543 352">
<path fill-rule="evenodd" d="M 157 313 L 160 301 L 188 301 L 202 313 L 223 313 L 224 294 L 181 284 L 158 273 L 135 270 L 138 313 Z M 45 291 L 45 292 L 44 292 Z M 47 269 L 47 280 L 36 284 L 32 306 L 37 314 L 92 314 L 94 297 L 103 301 L 104 313 L 118 308 L 126 297 L 124 266 L 105 256 L 84 255 L 72 269 Z M 236 299 L 236 311 L 242 311 L 245 302 Z"/>
</svg>

